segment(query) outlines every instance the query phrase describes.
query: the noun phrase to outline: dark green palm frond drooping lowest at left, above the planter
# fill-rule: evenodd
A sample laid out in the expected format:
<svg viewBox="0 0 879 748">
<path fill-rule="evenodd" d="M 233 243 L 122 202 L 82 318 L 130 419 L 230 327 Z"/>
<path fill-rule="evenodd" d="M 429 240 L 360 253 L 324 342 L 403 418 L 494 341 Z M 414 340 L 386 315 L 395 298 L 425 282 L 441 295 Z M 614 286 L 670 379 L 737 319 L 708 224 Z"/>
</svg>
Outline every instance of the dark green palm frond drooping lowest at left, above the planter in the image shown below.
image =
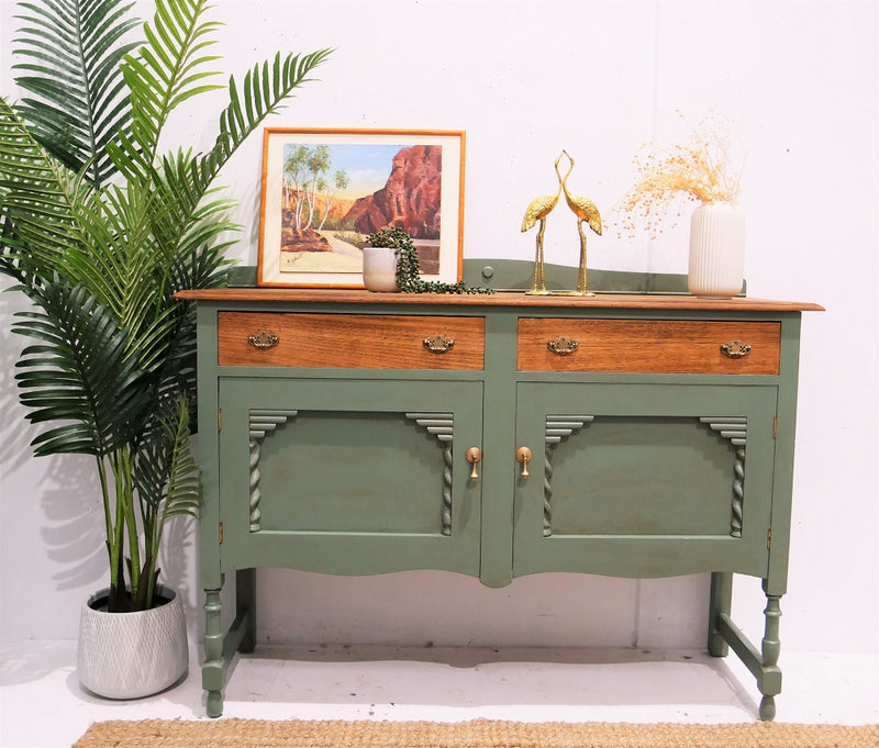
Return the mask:
<svg viewBox="0 0 879 748">
<path fill-rule="evenodd" d="M 33 440 L 35 454 L 101 457 L 129 443 L 151 391 L 114 314 L 82 286 L 56 280 L 29 295 L 38 309 L 18 312 L 12 325 L 38 340 L 15 365 L 21 402 L 32 423 L 63 422 Z"/>
</svg>

